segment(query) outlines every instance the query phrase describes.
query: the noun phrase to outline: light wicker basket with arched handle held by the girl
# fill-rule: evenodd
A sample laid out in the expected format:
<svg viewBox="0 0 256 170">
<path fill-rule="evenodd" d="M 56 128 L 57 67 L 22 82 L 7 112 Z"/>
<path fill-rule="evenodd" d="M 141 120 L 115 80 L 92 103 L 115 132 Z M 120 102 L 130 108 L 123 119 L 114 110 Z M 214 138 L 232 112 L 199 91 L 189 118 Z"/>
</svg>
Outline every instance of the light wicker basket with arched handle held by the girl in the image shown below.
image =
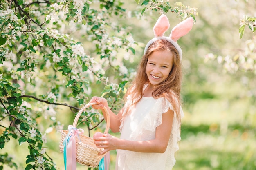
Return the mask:
<svg viewBox="0 0 256 170">
<path fill-rule="evenodd" d="M 83 106 L 79 112 L 77 113 L 74 122 L 73 127 L 76 127 L 77 121 L 81 115 L 81 113 L 88 107 L 97 104 L 97 103 L 90 103 Z M 110 126 L 110 115 L 108 113 L 108 110 L 106 107 L 103 108 L 105 110 L 105 113 L 107 115 L 106 117 L 106 130 L 105 134 L 108 133 L 109 126 Z M 64 146 L 63 141 L 65 140 L 68 130 L 60 130 L 61 132 L 61 141 L 60 141 L 60 151 L 63 153 Z M 79 139 L 80 138 L 80 139 Z M 104 155 L 98 155 L 100 152 L 103 151 L 103 149 L 97 148 L 96 145 L 93 142 L 92 137 L 88 137 L 85 135 L 79 135 L 79 138 L 76 136 L 76 161 L 84 166 L 88 167 L 97 167 L 99 165 L 99 161 L 104 157 Z"/>
</svg>

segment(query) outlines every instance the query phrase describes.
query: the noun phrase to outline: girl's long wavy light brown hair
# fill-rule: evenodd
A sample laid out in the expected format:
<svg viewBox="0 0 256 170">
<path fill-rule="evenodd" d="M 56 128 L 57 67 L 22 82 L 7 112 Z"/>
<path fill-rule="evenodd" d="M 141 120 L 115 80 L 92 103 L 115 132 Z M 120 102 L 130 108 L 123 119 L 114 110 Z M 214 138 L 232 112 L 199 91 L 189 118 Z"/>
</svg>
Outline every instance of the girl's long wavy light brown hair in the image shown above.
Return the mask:
<svg viewBox="0 0 256 170">
<path fill-rule="evenodd" d="M 177 49 L 167 40 L 157 40 L 148 47 L 148 50 L 143 55 L 138 67 L 137 75 L 132 83 L 132 86 L 126 93 L 126 99 L 131 97 L 131 105 L 137 104 L 143 97 L 145 85 L 149 83 L 148 76 L 146 74 L 146 65 L 148 57 L 154 51 L 166 51 L 173 53 L 173 68 L 171 69 L 168 77 L 154 88 L 152 96 L 157 99 L 159 97 L 166 97 L 166 99 L 173 105 L 173 109 L 180 120 L 180 88 L 182 82 L 182 65 L 179 53 Z M 160 57 L 160 56 L 159 56 Z M 130 98 L 129 97 L 129 98 Z M 131 106 L 130 105 L 130 106 Z M 124 117 L 129 114 L 129 108 L 127 108 Z"/>
</svg>

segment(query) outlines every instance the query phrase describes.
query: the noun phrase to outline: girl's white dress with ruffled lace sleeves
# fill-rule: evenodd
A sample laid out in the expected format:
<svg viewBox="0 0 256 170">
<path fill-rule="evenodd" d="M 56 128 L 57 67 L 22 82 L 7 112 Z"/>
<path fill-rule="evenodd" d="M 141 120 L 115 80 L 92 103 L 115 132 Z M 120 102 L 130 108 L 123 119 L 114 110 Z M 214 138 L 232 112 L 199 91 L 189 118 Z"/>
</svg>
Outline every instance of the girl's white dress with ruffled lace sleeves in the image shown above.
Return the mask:
<svg viewBox="0 0 256 170">
<path fill-rule="evenodd" d="M 157 126 L 162 124 L 162 114 L 173 106 L 164 97 L 142 97 L 135 108 L 130 110 L 120 126 L 121 139 L 144 141 L 155 138 Z M 184 117 L 180 109 L 181 118 Z M 174 154 L 179 150 L 180 126 L 176 114 L 168 147 L 164 153 L 141 153 L 117 150 L 116 170 L 171 170 L 176 162 Z"/>
</svg>

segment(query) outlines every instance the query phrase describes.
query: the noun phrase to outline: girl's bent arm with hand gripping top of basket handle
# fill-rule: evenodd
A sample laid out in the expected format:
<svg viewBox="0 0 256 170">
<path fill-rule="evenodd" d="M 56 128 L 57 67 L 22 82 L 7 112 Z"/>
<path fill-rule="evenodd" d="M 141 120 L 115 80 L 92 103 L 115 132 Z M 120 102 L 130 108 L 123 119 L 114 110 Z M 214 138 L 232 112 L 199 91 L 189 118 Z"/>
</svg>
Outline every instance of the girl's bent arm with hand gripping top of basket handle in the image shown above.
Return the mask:
<svg viewBox="0 0 256 170">
<path fill-rule="evenodd" d="M 121 118 L 122 118 L 122 115 L 123 115 L 123 109 L 121 109 L 119 111 L 119 113 L 117 113 L 117 115 L 116 115 L 108 107 L 108 102 L 105 98 L 94 96 L 94 97 L 92 97 L 92 99 L 90 100 L 89 103 L 92 103 L 92 102 L 97 103 L 97 105 L 96 104 L 92 105 L 92 108 L 101 109 L 105 120 L 106 120 L 106 113 L 105 113 L 105 110 L 103 110 L 103 107 L 105 106 L 108 109 L 108 113 L 110 115 L 110 129 L 114 133 L 119 132 L 119 127 L 120 127 L 120 124 L 121 124 Z"/>
</svg>

